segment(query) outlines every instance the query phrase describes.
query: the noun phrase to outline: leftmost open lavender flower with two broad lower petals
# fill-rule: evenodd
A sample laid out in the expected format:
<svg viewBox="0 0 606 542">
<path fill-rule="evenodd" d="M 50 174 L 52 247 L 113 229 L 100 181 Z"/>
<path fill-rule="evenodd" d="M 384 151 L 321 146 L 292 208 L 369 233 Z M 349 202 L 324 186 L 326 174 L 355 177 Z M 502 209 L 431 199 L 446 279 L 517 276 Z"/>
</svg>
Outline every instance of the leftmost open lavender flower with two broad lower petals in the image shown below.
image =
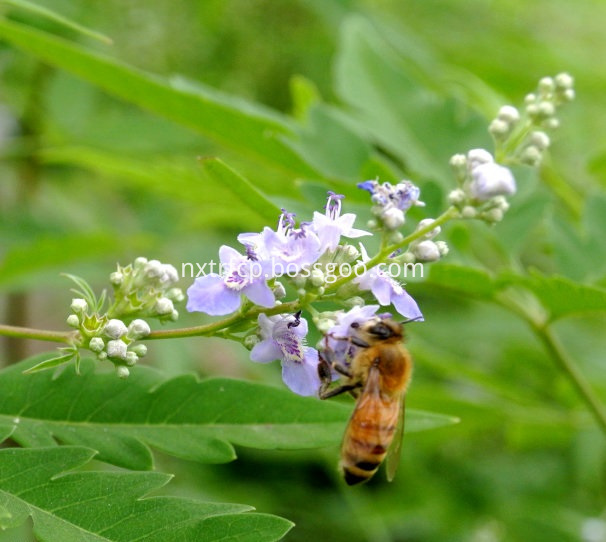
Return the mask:
<svg viewBox="0 0 606 542">
<path fill-rule="evenodd" d="M 197 278 L 187 290 L 187 310 L 213 316 L 230 314 L 240 307 L 242 294 L 257 305 L 273 307 L 274 294 L 267 285 L 267 264 L 248 259 L 223 245 L 219 249 L 222 274 Z"/>
</svg>

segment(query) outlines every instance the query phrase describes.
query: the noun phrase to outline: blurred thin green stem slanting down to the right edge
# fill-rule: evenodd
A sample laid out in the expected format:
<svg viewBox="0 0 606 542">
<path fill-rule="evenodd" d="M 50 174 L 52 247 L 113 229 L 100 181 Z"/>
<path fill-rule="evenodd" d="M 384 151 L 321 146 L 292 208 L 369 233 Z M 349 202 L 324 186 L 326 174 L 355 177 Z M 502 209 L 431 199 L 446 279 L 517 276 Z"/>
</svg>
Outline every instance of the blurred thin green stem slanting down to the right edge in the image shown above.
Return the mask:
<svg viewBox="0 0 606 542">
<path fill-rule="evenodd" d="M 564 371 L 564 374 L 566 374 L 573 383 L 581 398 L 594 415 L 598 425 L 606 435 L 606 410 L 583 373 L 579 370 L 575 361 L 570 357 L 568 352 L 564 350 L 564 347 L 558 338 L 547 325 L 536 325 L 533 322 L 531 322 L 531 325 L 535 335 L 541 340 L 560 369 Z"/>
</svg>

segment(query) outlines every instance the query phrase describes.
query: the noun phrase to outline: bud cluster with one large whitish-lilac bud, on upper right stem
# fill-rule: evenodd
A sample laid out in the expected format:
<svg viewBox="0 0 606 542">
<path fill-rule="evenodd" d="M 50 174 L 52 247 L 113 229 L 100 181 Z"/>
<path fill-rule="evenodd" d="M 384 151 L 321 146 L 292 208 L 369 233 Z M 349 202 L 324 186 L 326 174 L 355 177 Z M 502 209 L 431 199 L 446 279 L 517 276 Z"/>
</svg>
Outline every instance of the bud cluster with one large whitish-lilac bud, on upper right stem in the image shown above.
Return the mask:
<svg viewBox="0 0 606 542">
<path fill-rule="evenodd" d="M 472 149 L 455 154 L 450 164 L 459 182 L 448 195 L 448 201 L 456 207 L 462 218 L 479 218 L 489 223 L 499 222 L 509 208 L 507 196 L 516 192 L 513 174 L 497 164 L 488 151 Z"/>
</svg>

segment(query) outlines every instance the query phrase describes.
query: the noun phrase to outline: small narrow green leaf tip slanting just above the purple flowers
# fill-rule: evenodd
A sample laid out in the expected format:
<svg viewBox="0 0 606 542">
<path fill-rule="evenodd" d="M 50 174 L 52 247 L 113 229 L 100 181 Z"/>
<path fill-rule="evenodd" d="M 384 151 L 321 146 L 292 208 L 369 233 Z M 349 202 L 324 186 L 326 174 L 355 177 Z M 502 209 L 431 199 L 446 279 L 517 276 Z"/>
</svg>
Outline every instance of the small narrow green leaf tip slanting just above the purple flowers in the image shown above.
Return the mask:
<svg viewBox="0 0 606 542">
<path fill-rule="evenodd" d="M 223 185 L 243 204 L 273 224 L 280 216 L 280 208 L 274 205 L 265 194 L 248 179 L 231 169 L 218 158 L 207 158 L 200 162 L 204 173 L 215 183 Z"/>
</svg>

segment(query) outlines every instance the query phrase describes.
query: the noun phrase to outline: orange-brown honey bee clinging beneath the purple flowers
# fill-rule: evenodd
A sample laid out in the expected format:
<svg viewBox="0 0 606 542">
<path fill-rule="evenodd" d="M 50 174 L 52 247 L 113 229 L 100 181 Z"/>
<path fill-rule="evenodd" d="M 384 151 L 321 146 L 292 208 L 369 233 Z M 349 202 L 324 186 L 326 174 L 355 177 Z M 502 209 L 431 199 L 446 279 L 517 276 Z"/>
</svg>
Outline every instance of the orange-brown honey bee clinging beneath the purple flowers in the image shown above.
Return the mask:
<svg viewBox="0 0 606 542">
<path fill-rule="evenodd" d="M 393 480 L 400 462 L 404 435 L 404 397 L 412 376 L 412 359 L 404 347 L 403 325 L 373 318 L 353 323 L 348 340 L 355 347 L 350 366 L 320 358 L 318 371 L 321 399 L 350 392 L 357 398 L 341 444 L 345 482 L 355 485 L 369 480 L 386 459 L 387 479 Z M 340 339 L 333 337 L 333 339 Z M 325 350 L 325 355 L 330 349 Z M 330 388 L 331 367 L 345 377 Z"/>
</svg>

